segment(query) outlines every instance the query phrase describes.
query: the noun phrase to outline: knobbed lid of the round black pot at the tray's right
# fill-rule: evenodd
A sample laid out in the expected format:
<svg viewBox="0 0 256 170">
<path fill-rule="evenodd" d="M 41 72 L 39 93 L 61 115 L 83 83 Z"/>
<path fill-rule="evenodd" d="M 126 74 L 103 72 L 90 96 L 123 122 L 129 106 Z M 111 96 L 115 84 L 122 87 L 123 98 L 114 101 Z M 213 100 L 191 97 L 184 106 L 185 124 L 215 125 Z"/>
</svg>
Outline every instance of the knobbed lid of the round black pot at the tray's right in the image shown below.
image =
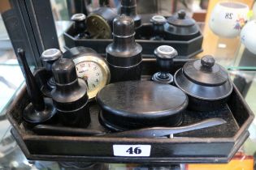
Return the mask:
<svg viewBox="0 0 256 170">
<path fill-rule="evenodd" d="M 203 86 L 219 86 L 228 81 L 228 72 L 215 63 L 215 58 L 206 55 L 201 60 L 186 62 L 184 75 L 194 83 Z"/>
</svg>

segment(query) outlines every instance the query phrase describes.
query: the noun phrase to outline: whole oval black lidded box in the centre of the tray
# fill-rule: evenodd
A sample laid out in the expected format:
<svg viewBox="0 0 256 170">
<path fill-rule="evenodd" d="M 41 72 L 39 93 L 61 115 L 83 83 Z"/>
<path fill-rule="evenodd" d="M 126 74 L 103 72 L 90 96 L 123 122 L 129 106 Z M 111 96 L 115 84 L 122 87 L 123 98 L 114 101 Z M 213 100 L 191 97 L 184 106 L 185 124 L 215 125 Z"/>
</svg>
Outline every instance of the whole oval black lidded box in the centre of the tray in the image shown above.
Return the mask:
<svg viewBox="0 0 256 170">
<path fill-rule="evenodd" d="M 177 126 L 188 105 L 179 88 L 152 81 L 111 83 L 98 92 L 99 121 L 110 130 Z"/>
</svg>

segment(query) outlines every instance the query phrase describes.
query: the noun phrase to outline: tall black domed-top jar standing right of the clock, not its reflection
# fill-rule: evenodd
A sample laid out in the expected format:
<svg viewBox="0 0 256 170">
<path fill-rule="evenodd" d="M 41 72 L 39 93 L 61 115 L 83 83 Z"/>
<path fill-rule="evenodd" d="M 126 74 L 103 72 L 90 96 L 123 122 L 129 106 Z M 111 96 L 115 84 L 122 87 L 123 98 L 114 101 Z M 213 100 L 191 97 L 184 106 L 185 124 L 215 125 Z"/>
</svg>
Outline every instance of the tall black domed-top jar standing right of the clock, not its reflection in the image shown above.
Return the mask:
<svg viewBox="0 0 256 170">
<path fill-rule="evenodd" d="M 106 47 L 106 62 L 111 70 L 111 83 L 141 79 L 141 45 L 135 42 L 134 20 L 116 17 L 113 22 L 113 42 Z"/>
</svg>

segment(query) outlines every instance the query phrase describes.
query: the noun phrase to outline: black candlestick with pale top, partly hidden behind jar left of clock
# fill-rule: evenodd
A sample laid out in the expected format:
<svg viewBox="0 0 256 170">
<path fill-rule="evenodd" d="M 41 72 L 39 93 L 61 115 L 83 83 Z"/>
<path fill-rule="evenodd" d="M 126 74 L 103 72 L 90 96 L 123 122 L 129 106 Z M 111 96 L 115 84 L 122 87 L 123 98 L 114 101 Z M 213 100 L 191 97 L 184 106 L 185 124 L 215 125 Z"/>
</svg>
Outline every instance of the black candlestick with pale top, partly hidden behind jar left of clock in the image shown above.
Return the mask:
<svg viewBox="0 0 256 170">
<path fill-rule="evenodd" d="M 56 87 L 55 81 L 53 79 L 53 74 L 51 71 L 51 67 L 59 60 L 60 57 L 62 57 L 63 54 L 59 49 L 46 49 L 43 53 L 41 53 L 41 61 L 43 62 L 43 65 L 46 67 L 46 71 L 48 74 L 50 74 L 50 79 L 47 80 L 47 83 L 44 84 L 44 86 L 41 88 L 41 91 L 43 94 L 47 97 L 51 97 L 50 92 Z"/>
</svg>

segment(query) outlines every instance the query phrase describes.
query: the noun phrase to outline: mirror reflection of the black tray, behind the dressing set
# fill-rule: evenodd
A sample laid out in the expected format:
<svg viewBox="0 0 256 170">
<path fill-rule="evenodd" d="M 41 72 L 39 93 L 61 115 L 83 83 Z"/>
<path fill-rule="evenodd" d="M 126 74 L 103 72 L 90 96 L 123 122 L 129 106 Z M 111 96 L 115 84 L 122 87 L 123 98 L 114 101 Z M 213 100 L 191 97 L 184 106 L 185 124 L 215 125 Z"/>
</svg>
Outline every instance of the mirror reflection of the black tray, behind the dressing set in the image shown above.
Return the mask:
<svg viewBox="0 0 256 170">
<path fill-rule="evenodd" d="M 74 36 L 76 32 L 71 26 L 64 32 L 63 37 L 67 49 L 77 46 L 85 46 L 94 49 L 102 55 L 106 54 L 106 46 L 111 44 L 112 39 L 79 39 Z M 178 57 L 189 58 L 194 57 L 197 53 L 202 52 L 202 32 L 198 32 L 197 36 L 192 40 L 141 40 L 141 36 L 149 38 L 153 35 L 151 23 L 142 24 L 141 28 L 136 31 L 136 42 L 142 46 L 142 54 L 145 57 L 154 57 L 154 49 L 160 45 L 170 45 L 178 52 Z"/>
</svg>

